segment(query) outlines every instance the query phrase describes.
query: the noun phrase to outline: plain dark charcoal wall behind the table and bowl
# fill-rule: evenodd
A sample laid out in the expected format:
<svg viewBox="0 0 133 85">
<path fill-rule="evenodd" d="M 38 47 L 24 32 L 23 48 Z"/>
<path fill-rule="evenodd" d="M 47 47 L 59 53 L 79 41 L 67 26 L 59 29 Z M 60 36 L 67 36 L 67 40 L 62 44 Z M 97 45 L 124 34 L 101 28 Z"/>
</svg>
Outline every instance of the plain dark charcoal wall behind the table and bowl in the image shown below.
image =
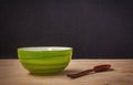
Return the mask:
<svg viewBox="0 0 133 85">
<path fill-rule="evenodd" d="M 133 1 L 0 1 L 0 57 L 38 45 L 72 46 L 73 59 L 131 59 Z"/>
</svg>

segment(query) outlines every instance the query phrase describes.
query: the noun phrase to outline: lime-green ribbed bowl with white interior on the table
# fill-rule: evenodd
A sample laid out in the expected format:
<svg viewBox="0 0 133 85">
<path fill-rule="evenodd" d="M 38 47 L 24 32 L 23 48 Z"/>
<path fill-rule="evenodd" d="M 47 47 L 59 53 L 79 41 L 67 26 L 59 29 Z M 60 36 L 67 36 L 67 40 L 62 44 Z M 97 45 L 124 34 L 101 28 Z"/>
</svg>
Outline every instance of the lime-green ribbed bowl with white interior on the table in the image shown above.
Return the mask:
<svg viewBox="0 0 133 85">
<path fill-rule="evenodd" d="M 62 72 L 68 66 L 72 57 L 72 47 L 19 47 L 18 57 L 31 74 L 52 75 Z"/>
</svg>

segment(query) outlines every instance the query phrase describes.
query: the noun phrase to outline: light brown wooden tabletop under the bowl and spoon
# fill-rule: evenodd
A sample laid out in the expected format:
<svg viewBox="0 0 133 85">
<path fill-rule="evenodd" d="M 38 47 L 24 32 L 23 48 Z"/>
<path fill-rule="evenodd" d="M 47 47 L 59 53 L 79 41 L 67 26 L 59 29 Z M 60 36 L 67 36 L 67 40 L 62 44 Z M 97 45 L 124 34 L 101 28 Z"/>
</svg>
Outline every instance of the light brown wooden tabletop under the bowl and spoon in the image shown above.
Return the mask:
<svg viewBox="0 0 133 85">
<path fill-rule="evenodd" d="M 75 79 L 66 76 L 68 73 L 81 72 L 100 64 L 111 64 L 114 71 Z M 0 60 L 0 85 L 133 85 L 133 60 L 72 60 L 61 74 L 54 76 L 31 75 L 19 60 Z"/>
</svg>

